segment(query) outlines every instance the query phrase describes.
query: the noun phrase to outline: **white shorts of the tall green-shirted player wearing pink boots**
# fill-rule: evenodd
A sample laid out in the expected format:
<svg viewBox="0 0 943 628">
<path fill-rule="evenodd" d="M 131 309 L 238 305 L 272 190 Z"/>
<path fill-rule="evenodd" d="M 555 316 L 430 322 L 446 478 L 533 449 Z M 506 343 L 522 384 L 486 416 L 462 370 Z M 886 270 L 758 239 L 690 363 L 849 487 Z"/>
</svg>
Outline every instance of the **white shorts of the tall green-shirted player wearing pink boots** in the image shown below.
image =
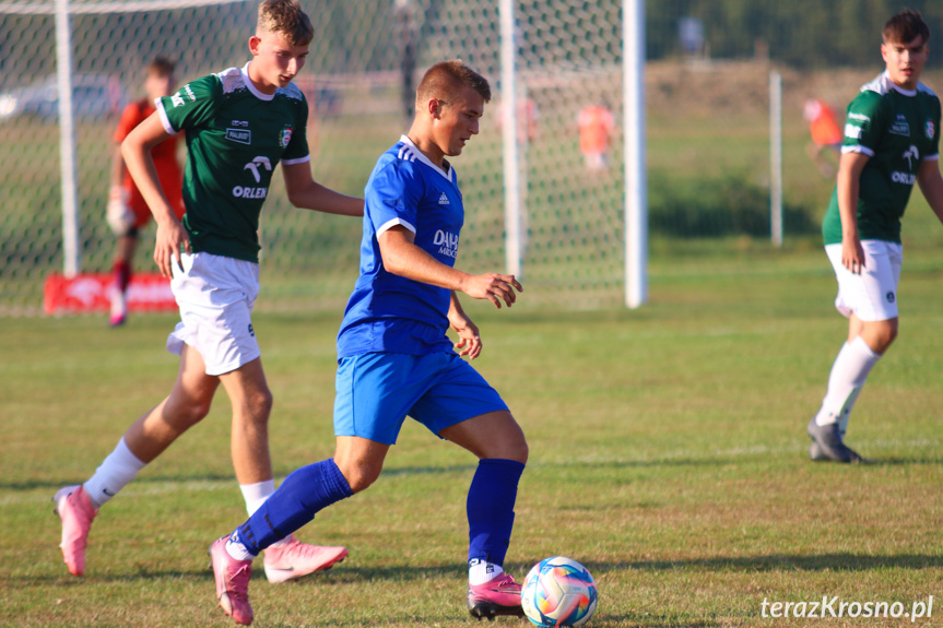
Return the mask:
<svg viewBox="0 0 943 628">
<path fill-rule="evenodd" d="M 259 296 L 259 264 L 210 253 L 184 253 L 182 262 L 184 272 L 175 263 L 170 281 L 180 322 L 167 336 L 167 351 L 179 355 L 188 344 L 212 376 L 259 357 L 251 319 Z"/>
</svg>

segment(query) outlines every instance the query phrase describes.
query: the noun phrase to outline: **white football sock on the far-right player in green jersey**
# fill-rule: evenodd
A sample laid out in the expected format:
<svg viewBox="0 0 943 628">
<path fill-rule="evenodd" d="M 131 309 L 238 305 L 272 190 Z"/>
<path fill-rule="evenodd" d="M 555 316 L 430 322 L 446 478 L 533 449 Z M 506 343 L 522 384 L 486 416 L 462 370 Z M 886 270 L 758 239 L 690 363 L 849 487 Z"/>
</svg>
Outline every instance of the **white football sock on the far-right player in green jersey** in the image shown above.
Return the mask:
<svg viewBox="0 0 943 628">
<path fill-rule="evenodd" d="M 817 425 L 838 423 L 841 435 L 848 429 L 851 408 L 858 401 L 861 388 L 868 380 L 868 374 L 881 359 L 881 354 L 874 353 L 861 336 L 846 342 L 832 365 L 828 376 L 828 390 L 822 400 L 822 407 L 815 415 Z"/>
</svg>

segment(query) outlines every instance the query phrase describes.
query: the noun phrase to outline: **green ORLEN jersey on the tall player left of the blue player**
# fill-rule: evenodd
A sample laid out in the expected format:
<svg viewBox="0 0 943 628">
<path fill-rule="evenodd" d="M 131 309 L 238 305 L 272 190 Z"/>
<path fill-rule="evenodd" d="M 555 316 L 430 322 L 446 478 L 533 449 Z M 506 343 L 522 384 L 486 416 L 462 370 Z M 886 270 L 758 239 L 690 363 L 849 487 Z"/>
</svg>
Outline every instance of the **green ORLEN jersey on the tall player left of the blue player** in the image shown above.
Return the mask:
<svg viewBox="0 0 943 628">
<path fill-rule="evenodd" d="M 308 105 L 294 84 L 262 94 L 249 64 L 184 85 L 157 100 L 169 133 L 186 132 L 184 226 L 193 252 L 259 261 L 259 213 L 279 162 L 310 159 Z"/>
</svg>

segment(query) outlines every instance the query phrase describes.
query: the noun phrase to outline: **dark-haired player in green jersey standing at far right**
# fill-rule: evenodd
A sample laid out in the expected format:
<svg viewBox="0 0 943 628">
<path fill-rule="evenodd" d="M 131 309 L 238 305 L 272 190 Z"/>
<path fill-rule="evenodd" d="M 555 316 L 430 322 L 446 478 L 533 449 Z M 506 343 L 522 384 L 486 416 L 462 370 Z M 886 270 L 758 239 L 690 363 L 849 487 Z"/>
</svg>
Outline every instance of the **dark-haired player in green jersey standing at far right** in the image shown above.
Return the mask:
<svg viewBox="0 0 943 628">
<path fill-rule="evenodd" d="M 881 45 L 886 70 L 848 106 L 838 183 L 823 224 L 848 340 L 806 427 L 812 460 L 863 460 L 845 445 L 845 431 L 868 374 L 897 336 L 900 218 L 915 183 L 943 222 L 940 98 L 920 83 L 929 42 L 920 13 L 894 15 Z"/>
</svg>

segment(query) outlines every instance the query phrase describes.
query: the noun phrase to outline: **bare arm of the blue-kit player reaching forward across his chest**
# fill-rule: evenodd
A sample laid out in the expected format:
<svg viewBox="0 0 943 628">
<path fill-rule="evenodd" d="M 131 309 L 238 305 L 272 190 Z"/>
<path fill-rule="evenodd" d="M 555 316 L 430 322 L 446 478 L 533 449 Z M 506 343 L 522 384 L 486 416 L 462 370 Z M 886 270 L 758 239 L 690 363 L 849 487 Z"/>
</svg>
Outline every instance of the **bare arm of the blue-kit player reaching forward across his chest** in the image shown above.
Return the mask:
<svg viewBox="0 0 943 628">
<path fill-rule="evenodd" d="M 458 291 L 475 299 L 487 299 L 500 309 L 500 301 L 507 307 L 517 300 L 518 292 L 523 292 L 514 275 L 485 273 L 472 275 L 448 266 L 414 244 L 415 235 L 401 225 L 386 229 L 377 238 L 384 268 L 402 277 L 424 284 Z"/>
</svg>

